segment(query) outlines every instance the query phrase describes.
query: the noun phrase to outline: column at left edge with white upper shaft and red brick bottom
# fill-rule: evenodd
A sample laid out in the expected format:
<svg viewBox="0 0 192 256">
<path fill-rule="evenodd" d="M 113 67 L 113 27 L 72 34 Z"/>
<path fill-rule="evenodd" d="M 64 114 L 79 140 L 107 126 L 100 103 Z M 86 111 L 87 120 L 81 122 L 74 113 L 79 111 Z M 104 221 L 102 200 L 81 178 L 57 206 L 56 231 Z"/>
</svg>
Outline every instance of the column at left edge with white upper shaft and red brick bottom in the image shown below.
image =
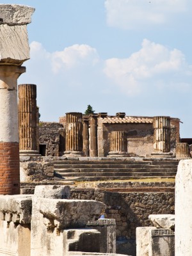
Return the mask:
<svg viewBox="0 0 192 256">
<path fill-rule="evenodd" d="M 0 195 L 20 193 L 17 79 L 25 70 L 0 65 Z"/>
</svg>

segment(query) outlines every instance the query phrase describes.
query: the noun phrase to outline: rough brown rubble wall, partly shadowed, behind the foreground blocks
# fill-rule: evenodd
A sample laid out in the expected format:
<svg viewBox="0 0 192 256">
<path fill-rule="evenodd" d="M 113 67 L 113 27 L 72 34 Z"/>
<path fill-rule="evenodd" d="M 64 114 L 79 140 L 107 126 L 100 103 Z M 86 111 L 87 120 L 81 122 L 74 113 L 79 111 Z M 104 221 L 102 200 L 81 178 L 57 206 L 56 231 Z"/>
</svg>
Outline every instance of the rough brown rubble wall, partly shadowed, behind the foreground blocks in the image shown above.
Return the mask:
<svg viewBox="0 0 192 256">
<path fill-rule="evenodd" d="M 148 227 L 150 214 L 174 214 L 174 193 L 113 193 L 72 190 L 72 198 L 98 200 L 107 205 L 106 218 L 116 220 L 117 253 L 136 255 L 136 227 Z"/>
</svg>

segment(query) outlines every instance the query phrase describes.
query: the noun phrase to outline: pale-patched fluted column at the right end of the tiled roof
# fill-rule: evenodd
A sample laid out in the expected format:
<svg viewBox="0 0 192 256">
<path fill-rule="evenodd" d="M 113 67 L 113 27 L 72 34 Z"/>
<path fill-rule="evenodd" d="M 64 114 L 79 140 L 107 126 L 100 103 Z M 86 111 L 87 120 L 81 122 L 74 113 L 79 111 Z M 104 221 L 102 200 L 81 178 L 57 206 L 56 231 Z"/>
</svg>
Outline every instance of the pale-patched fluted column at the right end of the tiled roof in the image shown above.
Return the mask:
<svg viewBox="0 0 192 256">
<path fill-rule="evenodd" d="M 170 152 L 170 116 L 154 116 L 154 153 Z"/>
</svg>

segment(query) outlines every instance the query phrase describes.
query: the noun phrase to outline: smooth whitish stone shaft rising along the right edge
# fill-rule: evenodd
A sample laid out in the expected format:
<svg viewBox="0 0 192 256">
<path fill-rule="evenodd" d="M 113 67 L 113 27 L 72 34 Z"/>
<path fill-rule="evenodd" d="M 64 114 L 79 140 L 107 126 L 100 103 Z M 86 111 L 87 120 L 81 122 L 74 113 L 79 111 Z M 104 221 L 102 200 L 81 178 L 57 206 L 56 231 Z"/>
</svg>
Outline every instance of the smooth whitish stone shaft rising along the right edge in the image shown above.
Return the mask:
<svg viewBox="0 0 192 256">
<path fill-rule="evenodd" d="M 175 179 L 175 256 L 192 255 L 192 160 L 179 162 Z"/>
</svg>

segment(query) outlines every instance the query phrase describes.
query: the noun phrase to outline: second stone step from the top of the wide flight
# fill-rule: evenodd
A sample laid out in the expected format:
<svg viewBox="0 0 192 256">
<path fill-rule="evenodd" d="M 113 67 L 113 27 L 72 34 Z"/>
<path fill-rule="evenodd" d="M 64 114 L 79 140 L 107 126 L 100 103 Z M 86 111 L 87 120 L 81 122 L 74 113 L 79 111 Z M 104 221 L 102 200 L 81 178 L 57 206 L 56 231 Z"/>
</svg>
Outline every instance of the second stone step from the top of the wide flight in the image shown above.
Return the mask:
<svg viewBox="0 0 192 256">
<path fill-rule="evenodd" d="M 54 169 L 132 169 L 132 168 L 143 168 L 143 169 L 177 169 L 174 165 L 141 165 L 141 164 L 54 164 Z"/>
</svg>

